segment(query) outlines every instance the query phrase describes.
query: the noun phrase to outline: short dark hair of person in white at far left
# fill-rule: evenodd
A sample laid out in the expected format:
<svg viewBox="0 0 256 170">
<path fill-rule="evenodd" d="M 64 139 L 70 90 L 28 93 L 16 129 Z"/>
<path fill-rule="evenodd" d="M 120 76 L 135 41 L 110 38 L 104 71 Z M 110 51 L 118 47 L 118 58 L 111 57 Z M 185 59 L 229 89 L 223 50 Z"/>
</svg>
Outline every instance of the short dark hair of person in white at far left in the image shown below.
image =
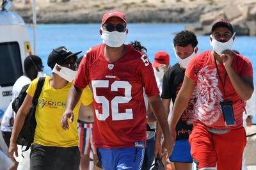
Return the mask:
<svg viewBox="0 0 256 170">
<path fill-rule="evenodd" d="M 26 75 L 28 75 L 28 72 L 30 72 L 30 69 L 32 67 L 35 67 L 33 62 L 35 63 L 36 66 L 43 65 L 41 58 L 39 58 L 36 55 L 29 55 L 24 59 L 24 71 Z"/>
</svg>

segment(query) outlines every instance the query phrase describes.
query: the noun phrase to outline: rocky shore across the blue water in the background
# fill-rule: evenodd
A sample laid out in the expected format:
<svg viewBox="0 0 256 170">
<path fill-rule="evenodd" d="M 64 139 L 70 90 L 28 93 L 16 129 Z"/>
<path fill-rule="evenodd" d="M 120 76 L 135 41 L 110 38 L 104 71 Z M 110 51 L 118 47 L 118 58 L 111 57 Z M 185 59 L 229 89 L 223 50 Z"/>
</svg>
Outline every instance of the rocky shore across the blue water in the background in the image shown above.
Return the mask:
<svg viewBox="0 0 256 170">
<path fill-rule="evenodd" d="M 13 3 L 14 11 L 31 23 L 32 4 L 21 0 Z M 207 35 L 212 22 L 227 19 L 234 24 L 236 35 L 256 35 L 255 0 L 37 0 L 36 3 L 37 22 L 44 24 L 99 23 L 106 11 L 120 10 L 129 23 L 186 22 L 186 29 Z"/>
</svg>

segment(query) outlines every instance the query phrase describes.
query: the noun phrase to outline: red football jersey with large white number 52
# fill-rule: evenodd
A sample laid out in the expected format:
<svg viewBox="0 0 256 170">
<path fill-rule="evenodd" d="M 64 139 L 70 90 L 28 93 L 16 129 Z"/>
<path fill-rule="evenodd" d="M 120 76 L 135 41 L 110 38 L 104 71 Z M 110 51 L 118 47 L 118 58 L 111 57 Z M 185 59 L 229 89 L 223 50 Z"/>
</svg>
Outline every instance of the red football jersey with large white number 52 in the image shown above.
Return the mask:
<svg viewBox="0 0 256 170">
<path fill-rule="evenodd" d="M 125 45 L 125 55 L 113 63 L 105 58 L 104 47 L 86 52 L 73 83 L 79 88 L 92 86 L 95 146 L 132 147 L 146 141 L 143 88 L 148 97 L 159 95 L 154 71 L 147 56 L 131 45 Z"/>
</svg>

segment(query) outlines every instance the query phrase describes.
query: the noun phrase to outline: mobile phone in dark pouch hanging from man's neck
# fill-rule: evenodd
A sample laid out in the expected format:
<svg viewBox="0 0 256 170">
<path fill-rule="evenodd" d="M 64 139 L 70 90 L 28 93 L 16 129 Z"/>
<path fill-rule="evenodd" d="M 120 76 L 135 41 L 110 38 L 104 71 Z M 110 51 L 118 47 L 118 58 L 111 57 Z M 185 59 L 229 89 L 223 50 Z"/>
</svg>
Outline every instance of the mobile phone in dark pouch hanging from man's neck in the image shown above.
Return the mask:
<svg viewBox="0 0 256 170">
<path fill-rule="evenodd" d="M 225 125 L 227 127 L 236 125 L 236 121 L 234 118 L 234 111 L 233 111 L 233 102 L 232 101 L 220 102 L 220 105 L 221 105 L 221 110 L 225 120 Z"/>
</svg>

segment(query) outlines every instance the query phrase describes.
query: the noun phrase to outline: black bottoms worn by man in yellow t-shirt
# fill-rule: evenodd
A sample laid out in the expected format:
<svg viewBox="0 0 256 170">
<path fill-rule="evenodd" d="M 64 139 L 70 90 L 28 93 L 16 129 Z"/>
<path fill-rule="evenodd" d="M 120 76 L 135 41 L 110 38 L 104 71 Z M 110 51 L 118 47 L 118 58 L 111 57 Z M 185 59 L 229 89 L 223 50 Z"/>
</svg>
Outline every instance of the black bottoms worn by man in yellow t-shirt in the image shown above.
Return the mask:
<svg viewBox="0 0 256 170">
<path fill-rule="evenodd" d="M 31 146 L 30 170 L 79 170 L 79 163 L 80 153 L 77 146 Z"/>
</svg>

